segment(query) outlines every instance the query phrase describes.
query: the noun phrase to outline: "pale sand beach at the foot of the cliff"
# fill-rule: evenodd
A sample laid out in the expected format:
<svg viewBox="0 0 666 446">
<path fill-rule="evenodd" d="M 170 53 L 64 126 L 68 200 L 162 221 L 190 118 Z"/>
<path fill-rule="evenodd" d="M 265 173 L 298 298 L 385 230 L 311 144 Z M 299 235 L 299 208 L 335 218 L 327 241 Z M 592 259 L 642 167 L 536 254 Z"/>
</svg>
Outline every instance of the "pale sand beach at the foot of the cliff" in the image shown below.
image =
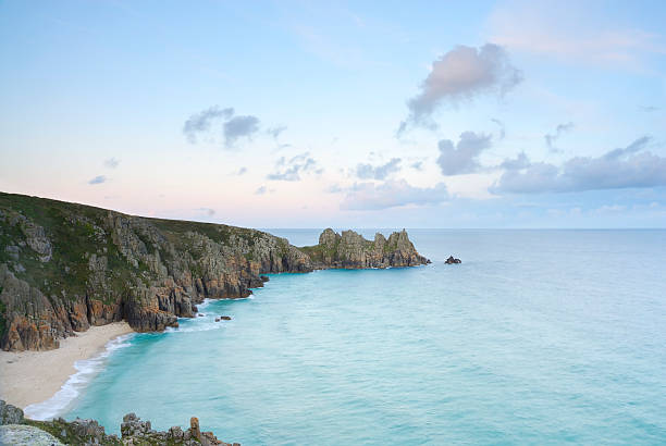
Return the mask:
<svg viewBox="0 0 666 446">
<path fill-rule="evenodd" d="M 74 362 L 103 351 L 109 340 L 127 333 L 132 329 L 126 322 L 114 322 L 61 339 L 54 350 L 0 350 L 0 399 L 21 408 L 49 399 L 76 373 Z"/>
</svg>

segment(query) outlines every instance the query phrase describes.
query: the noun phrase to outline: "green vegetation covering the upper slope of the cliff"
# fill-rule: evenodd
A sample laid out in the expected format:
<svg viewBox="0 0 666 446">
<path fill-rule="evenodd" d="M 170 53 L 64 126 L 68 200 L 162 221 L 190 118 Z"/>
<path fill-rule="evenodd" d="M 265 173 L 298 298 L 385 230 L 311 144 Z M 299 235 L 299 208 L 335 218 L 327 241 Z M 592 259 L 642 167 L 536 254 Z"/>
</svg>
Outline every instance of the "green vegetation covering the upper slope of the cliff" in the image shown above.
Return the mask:
<svg viewBox="0 0 666 446">
<path fill-rule="evenodd" d="M 112 237 L 113 226 L 108 211 L 83 205 L 0 193 L 0 263 L 7 263 L 14 274 L 30 286 L 40 289 L 49 298 L 78 300 L 86 295 L 101 298 L 106 303 L 127 296 L 137 285 L 149 286 L 158 274 L 152 271 L 151 257 L 159 255 L 166 265 L 176 261 L 173 249 L 184 252 L 185 261 L 194 276 L 201 277 L 203 268 L 199 260 L 207 253 L 205 246 L 196 243 L 203 235 L 221 245 L 240 247 L 247 260 L 255 260 L 255 246 L 266 233 L 229 225 L 187 222 L 164 219 L 141 219 L 146 226 L 131 226 L 128 237 L 136 237 L 140 245 L 128 259 Z M 113 213 L 115 215 L 123 215 Z M 132 221 L 132 216 L 125 215 Z M 42 261 L 28 245 L 26 225 L 45 230 L 51 244 L 51 258 Z M 151 233 L 155 231 L 155 234 Z M 157 237 L 157 238 L 156 238 Z M 127 241 L 127 240 L 125 240 Z M 171 246 L 170 246 L 171 244 Z M 280 240 L 282 253 L 288 251 L 288 243 Z M 11 252 L 5 248 L 11 248 Z M 136 246 L 136 245 L 135 245 Z M 125 248 L 123 248 L 125 249 Z M 194 261 L 187 261 L 192 256 Z M 100 262 L 100 271 L 91 271 L 92 256 Z M 106 258 L 104 261 L 100 260 Z M 97 275 L 96 275 L 97 274 Z M 101 278 L 100 275 L 101 274 Z M 103 281 L 100 283 L 100 280 Z M 104 289 L 97 289 L 99 285 Z"/>
</svg>

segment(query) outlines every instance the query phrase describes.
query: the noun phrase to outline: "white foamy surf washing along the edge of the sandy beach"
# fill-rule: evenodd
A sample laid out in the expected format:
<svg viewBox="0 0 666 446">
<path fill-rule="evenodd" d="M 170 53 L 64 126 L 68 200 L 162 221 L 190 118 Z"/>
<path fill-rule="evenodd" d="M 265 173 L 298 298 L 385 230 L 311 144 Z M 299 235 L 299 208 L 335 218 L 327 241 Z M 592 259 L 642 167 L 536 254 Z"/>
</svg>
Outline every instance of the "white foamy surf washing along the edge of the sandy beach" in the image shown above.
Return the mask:
<svg viewBox="0 0 666 446">
<path fill-rule="evenodd" d="M 42 402 L 29 405 L 24 409 L 27 417 L 33 420 L 51 420 L 66 412 L 72 402 L 81 395 L 92 379 L 103 369 L 107 359 L 118 349 L 128 347 L 134 333 L 119 336 L 109 340 L 104 351 L 89 359 L 82 359 L 74 363 L 76 373 L 60 387 L 60 391 Z"/>
</svg>

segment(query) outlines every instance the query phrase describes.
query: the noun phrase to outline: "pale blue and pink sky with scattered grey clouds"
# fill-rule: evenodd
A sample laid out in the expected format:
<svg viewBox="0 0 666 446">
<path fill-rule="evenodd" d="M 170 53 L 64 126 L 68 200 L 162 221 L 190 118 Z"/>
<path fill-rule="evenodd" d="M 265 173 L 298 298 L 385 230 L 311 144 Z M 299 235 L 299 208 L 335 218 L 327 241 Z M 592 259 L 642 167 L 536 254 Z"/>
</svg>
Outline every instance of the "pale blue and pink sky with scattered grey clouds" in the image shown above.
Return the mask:
<svg viewBox="0 0 666 446">
<path fill-rule="evenodd" d="M 0 1 L 0 190 L 250 227 L 666 227 L 663 1 Z"/>
</svg>

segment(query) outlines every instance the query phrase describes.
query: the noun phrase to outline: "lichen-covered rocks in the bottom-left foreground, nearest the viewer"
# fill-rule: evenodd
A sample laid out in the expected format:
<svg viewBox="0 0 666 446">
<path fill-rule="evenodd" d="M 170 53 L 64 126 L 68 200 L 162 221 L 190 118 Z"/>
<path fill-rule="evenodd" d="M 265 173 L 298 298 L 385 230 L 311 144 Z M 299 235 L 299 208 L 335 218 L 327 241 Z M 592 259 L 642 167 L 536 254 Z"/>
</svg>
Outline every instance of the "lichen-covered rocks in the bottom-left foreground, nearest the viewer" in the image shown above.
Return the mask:
<svg viewBox="0 0 666 446">
<path fill-rule="evenodd" d="M 5 416 L 9 413 L 10 416 Z M 65 421 L 62 418 L 52 421 L 34 421 L 23 417 L 23 410 L 0 400 L 0 430 L 2 444 L 72 444 L 72 445 L 203 445 L 203 446 L 240 446 L 238 443 L 224 443 L 212 433 L 201 432 L 199 419 L 189 420 L 189 429 L 173 426 L 166 432 L 155 431 L 150 421 L 141 421 L 135 413 L 123 417 L 121 438 L 108 435 L 104 428 L 95 420 L 76 419 Z M 11 442 L 9 442 L 10 439 Z M 51 443 L 46 442 L 50 439 Z M 21 442 L 27 443 L 21 443 Z"/>
</svg>

